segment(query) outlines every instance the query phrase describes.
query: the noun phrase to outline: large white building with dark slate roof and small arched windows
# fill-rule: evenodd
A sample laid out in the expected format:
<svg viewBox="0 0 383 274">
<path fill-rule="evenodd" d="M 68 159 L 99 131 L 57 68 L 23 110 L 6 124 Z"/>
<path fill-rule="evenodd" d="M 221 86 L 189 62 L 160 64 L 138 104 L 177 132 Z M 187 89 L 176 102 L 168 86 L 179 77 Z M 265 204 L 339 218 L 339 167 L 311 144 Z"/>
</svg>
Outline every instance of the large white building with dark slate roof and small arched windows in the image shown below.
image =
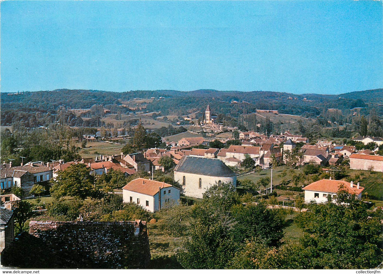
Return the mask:
<svg viewBox="0 0 383 274">
<path fill-rule="evenodd" d="M 236 186 L 237 175 L 219 159 L 184 156 L 174 168 L 174 181 L 178 181 L 186 196 L 202 198 L 214 184 Z"/>
</svg>

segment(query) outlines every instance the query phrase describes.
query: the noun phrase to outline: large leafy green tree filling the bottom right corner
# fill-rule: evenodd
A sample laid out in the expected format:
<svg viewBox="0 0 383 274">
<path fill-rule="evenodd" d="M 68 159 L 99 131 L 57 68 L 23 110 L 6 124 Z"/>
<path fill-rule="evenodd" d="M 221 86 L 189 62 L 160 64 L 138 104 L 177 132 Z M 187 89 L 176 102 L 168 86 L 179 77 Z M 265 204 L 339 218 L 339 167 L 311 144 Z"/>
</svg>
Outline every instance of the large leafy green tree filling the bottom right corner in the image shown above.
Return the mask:
<svg viewBox="0 0 383 274">
<path fill-rule="evenodd" d="M 383 213 L 344 190 L 336 202 L 312 204 L 296 217 L 303 229 L 300 239 L 303 265 L 314 269 L 374 268 L 381 262 Z"/>
</svg>

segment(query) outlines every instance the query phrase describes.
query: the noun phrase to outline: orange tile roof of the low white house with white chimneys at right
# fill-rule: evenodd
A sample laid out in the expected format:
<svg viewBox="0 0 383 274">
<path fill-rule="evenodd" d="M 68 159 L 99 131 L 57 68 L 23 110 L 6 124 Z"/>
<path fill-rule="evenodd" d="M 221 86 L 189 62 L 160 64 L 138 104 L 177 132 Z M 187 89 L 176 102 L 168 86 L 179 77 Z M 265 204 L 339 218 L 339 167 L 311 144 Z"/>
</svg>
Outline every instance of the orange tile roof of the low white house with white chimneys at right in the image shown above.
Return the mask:
<svg viewBox="0 0 383 274">
<path fill-rule="evenodd" d="M 308 186 L 305 186 L 303 190 L 336 193 L 339 191 L 341 187 L 344 187 L 345 190 L 348 191 L 350 194 L 356 194 L 356 195 L 358 195 L 364 189 L 361 186 L 359 186 L 359 189 L 358 189 L 357 184 L 354 184 L 353 187 L 351 188 L 349 182 L 342 181 L 342 180 L 322 179 L 314 183 L 311 183 Z"/>
</svg>

